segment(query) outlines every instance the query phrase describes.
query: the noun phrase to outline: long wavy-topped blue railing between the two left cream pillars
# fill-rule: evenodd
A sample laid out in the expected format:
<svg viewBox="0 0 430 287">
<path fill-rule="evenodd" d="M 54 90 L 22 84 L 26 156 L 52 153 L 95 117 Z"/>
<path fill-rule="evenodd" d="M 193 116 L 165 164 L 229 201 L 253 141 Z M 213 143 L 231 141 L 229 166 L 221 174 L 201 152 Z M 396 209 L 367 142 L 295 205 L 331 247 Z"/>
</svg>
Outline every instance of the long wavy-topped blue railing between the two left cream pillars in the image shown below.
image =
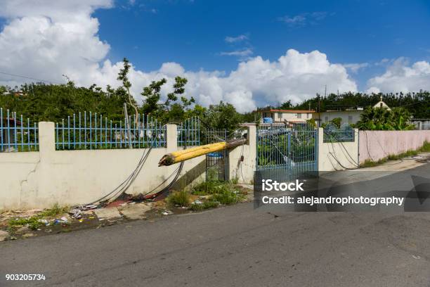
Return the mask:
<svg viewBox="0 0 430 287">
<path fill-rule="evenodd" d="M 79 112 L 56 123 L 56 150 L 162 148 L 166 126 L 148 115 L 112 121 L 103 115 Z"/>
</svg>

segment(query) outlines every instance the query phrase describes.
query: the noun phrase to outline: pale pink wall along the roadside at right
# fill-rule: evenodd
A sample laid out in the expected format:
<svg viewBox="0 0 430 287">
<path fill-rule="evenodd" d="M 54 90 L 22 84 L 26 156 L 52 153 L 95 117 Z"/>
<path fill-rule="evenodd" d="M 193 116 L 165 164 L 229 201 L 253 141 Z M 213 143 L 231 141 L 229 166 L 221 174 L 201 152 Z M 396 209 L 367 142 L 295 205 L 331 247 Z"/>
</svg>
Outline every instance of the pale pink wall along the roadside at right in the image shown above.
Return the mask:
<svg viewBox="0 0 430 287">
<path fill-rule="evenodd" d="M 430 142 L 430 130 L 421 131 L 360 131 L 360 163 L 377 161 L 388 155 L 396 155 L 420 148 Z"/>
</svg>

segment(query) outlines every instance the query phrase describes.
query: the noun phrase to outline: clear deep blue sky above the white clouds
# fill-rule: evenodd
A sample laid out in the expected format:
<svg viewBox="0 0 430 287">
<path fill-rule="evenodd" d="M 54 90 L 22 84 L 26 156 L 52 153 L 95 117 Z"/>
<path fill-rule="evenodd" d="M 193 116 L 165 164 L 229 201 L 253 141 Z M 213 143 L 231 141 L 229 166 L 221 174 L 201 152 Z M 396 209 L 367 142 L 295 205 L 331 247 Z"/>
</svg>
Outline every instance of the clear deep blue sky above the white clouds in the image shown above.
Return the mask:
<svg viewBox="0 0 430 287">
<path fill-rule="evenodd" d="M 430 1 L 121 1 L 100 9 L 100 39 L 110 58 L 128 57 L 137 68 L 164 62 L 186 70 L 237 68 L 237 56 L 276 60 L 287 49 L 318 50 L 331 63 L 368 63 L 350 75 L 365 88 L 383 59 L 429 60 Z M 226 37 L 247 36 L 228 43 Z"/>
</svg>

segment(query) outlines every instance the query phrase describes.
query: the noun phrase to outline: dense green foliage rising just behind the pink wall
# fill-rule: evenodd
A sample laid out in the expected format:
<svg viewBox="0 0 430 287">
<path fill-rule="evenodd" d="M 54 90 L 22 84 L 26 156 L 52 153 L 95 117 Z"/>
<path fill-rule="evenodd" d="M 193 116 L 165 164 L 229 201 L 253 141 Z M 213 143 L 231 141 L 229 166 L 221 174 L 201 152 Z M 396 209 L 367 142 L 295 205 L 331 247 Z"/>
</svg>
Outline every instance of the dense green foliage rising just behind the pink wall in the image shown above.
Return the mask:
<svg viewBox="0 0 430 287">
<path fill-rule="evenodd" d="M 357 122 L 358 129 L 365 130 L 409 130 L 415 129 L 408 124 L 410 113 L 404 108 L 366 108 Z"/>
</svg>

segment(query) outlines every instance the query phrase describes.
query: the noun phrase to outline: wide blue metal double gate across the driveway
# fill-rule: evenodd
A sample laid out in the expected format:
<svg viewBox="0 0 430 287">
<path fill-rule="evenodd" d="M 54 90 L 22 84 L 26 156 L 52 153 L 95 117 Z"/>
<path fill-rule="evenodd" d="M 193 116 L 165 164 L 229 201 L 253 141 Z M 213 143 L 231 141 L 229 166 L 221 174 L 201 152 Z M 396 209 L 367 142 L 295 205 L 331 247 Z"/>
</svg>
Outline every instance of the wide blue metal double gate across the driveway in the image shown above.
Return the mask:
<svg viewBox="0 0 430 287">
<path fill-rule="evenodd" d="M 309 124 L 257 127 L 256 170 L 263 178 L 291 181 L 318 171 L 318 129 Z"/>
</svg>

